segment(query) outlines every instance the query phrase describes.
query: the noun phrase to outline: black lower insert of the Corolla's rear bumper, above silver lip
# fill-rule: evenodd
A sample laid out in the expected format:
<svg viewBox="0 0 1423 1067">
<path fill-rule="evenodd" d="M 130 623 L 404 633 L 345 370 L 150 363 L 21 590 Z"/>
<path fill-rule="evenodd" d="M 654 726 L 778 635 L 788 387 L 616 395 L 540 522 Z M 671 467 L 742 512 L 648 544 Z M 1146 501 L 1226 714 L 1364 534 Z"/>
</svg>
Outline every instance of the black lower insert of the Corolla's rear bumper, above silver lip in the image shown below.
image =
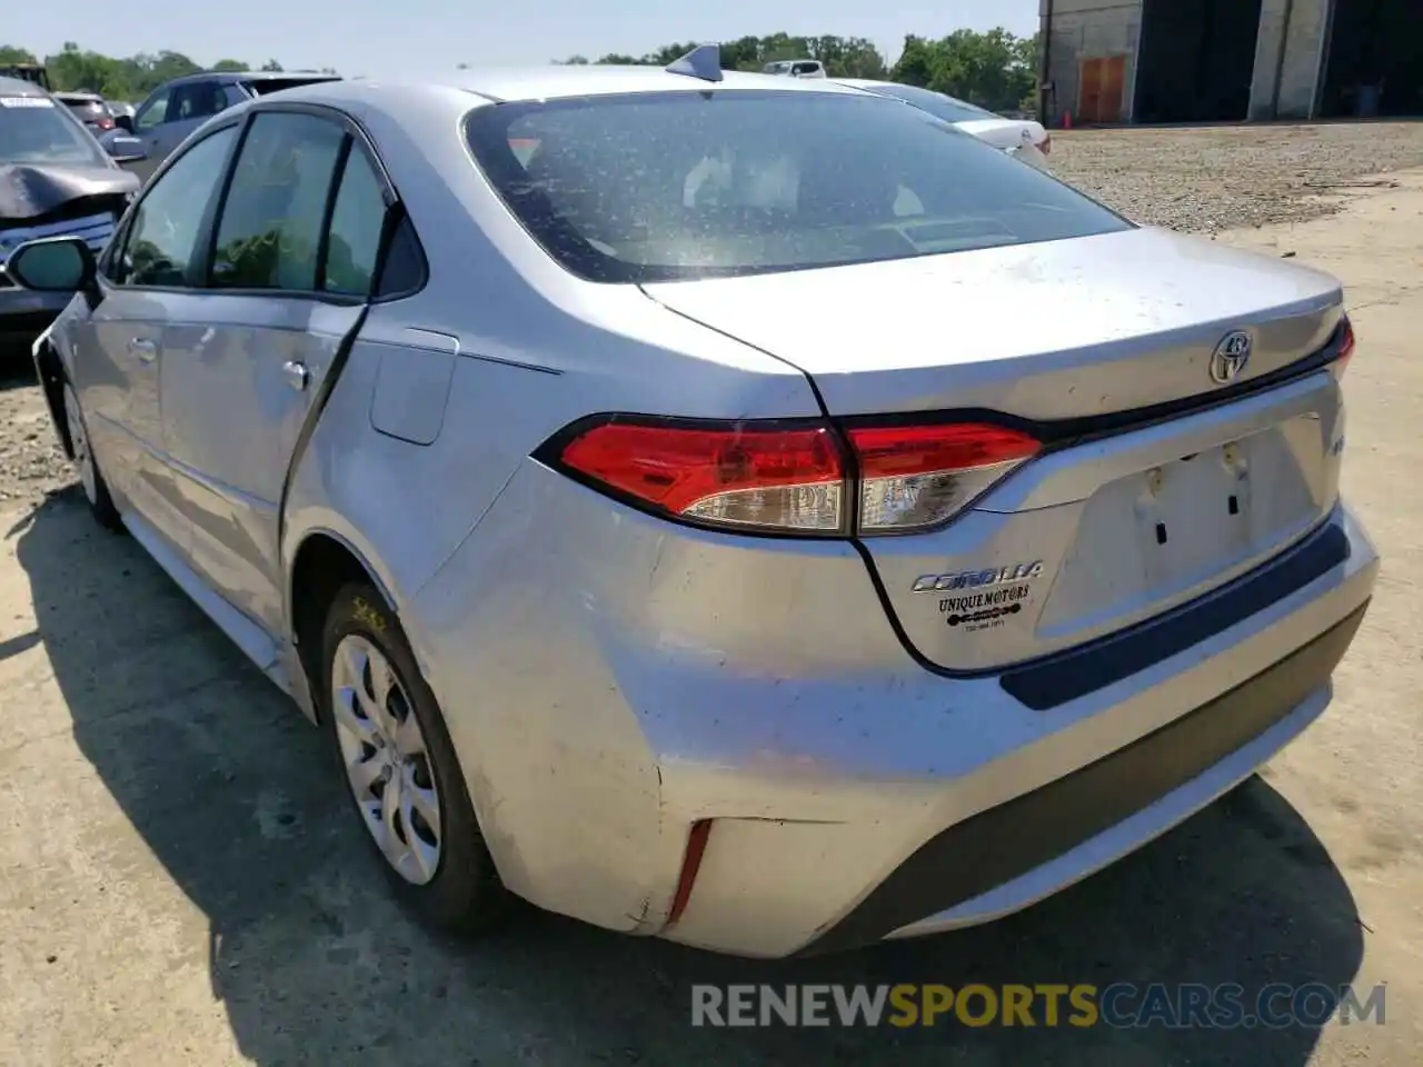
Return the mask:
<svg viewBox="0 0 1423 1067">
<path fill-rule="evenodd" d="M 925 842 L 850 915 L 797 955 L 840 952 L 1042 866 L 1218 764 L 1322 687 L 1369 605 L 1211 703 Z"/>
</svg>

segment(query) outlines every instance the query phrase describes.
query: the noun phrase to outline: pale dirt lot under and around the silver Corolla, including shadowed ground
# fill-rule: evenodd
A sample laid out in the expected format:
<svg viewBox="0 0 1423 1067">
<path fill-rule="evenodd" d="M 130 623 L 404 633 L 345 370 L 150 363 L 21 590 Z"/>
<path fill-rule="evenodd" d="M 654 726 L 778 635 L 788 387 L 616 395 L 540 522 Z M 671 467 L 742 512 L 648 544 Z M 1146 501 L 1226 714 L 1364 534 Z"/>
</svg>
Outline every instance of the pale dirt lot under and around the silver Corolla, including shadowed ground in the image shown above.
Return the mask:
<svg viewBox="0 0 1423 1067">
<path fill-rule="evenodd" d="M 1110 137 L 1120 156 L 1103 165 L 1123 175 L 1148 165 L 1147 138 L 1170 141 L 1083 134 L 1062 161 L 1079 145 L 1106 159 Z M 542 915 L 472 946 L 414 929 L 320 736 L 73 489 L 46 497 L 67 474 L 36 391 L 13 383 L 0 394 L 0 1064 L 1417 1063 L 1423 171 L 1396 182 L 1346 192 L 1329 219 L 1220 238 L 1295 252 L 1350 286 L 1346 489 L 1386 562 L 1331 713 L 1262 780 L 1053 901 L 814 962 L 719 959 Z M 737 980 L 1386 982 L 1387 1021 L 690 1030 L 690 983 Z"/>
</svg>

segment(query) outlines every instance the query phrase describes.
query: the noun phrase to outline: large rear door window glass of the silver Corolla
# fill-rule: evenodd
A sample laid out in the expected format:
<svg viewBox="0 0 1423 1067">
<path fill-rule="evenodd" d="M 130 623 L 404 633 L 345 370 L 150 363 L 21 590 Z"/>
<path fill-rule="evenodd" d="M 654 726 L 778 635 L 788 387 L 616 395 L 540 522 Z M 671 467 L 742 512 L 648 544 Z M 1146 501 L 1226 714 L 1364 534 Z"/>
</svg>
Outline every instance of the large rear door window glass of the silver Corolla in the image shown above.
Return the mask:
<svg viewBox="0 0 1423 1067">
<path fill-rule="evenodd" d="M 316 289 L 322 223 L 346 129 L 314 115 L 253 117 L 218 223 L 212 285 Z"/>
</svg>

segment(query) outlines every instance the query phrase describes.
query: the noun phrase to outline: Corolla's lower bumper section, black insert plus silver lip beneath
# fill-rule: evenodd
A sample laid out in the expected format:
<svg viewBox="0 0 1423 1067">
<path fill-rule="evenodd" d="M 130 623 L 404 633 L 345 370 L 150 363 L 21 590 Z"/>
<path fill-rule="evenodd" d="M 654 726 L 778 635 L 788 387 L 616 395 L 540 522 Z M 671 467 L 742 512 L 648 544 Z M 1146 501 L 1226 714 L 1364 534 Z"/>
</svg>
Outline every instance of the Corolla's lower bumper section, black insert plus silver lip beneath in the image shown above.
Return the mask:
<svg viewBox="0 0 1423 1067">
<path fill-rule="evenodd" d="M 801 955 L 983 922 L 1154 838 L 1323 711 L 1366 610 L 1170 726 L 941 831 Z"/>
</svg>

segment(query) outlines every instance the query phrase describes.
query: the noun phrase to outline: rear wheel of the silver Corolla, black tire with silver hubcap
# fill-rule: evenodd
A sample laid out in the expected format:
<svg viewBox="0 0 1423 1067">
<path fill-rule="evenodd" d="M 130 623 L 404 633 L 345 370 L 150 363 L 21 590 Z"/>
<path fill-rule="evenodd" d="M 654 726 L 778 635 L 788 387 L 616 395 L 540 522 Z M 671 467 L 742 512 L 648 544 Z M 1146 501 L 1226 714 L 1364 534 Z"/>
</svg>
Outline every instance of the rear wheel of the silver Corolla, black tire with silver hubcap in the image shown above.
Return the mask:
<svg viewBox="0 0 1423 1067">
<path fill-rule="evenodd" d="M 391 684 L 377 704 L 371 683 L 381 663 Z M 398 619 L 366 582 L 344 586 L 327 610 L 319 693 L 346 791 L 397 898 L 444 933 L 495 925 L 511 895 L 484 844 L 444 717 Z M 383 716 L 371 714 L 377 707 Z M 386 775 L 379 781 L 377 765 Z M 393 785 L 397 800 L 387 802 Z M 431 809 L 438 827 L 424 814 Z"/>
</svg>

